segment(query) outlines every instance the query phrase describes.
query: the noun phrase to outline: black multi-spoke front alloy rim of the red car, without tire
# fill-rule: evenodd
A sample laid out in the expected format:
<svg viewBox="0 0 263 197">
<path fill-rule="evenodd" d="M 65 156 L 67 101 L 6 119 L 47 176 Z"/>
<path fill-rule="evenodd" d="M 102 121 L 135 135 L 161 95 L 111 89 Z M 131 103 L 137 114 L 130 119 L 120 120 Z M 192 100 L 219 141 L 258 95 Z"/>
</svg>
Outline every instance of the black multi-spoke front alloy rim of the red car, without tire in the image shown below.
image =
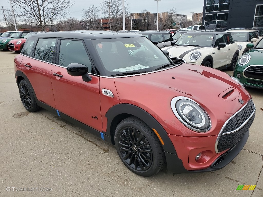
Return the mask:
<svg viewBox="0 0 263 197">
<path fill-rule="evenodd" d="M 125 127 L 117 137 L 119 151 L 127 164 L 135 170 L 147 170 L 153 155 L 147 139 L 137 129 Z"/>
</svg>

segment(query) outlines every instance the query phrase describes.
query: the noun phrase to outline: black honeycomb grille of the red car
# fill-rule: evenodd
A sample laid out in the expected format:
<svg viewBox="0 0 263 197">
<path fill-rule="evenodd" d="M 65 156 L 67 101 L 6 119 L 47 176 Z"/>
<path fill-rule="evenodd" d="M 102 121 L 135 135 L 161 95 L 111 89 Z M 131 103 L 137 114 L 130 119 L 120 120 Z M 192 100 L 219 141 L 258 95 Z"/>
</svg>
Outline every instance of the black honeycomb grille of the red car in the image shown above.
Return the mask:
<svg viewBox="0 0 263 197">
<path fill-rule="evenodd" d="M 233 117 L 225 126 L 224 131 L 222 133 L 227 133 L 234 131 L 235 129 L 239 128 L 248 118 L 252 115 L 253 111 L 255 110 L 255 105 L 252 100 L 247 103 L 246 107 L 244 107 L 235 117 Z M 242 126 L 238 131 L 230 134 L 221 134 L 217 149 L 218 152 L 224 151 L 235 146 L 240 139 L 244 136 L 247 130 L 252 125 L 255 118 L 255 114 L 250 118 L 250 120 Z"/>
</svg>

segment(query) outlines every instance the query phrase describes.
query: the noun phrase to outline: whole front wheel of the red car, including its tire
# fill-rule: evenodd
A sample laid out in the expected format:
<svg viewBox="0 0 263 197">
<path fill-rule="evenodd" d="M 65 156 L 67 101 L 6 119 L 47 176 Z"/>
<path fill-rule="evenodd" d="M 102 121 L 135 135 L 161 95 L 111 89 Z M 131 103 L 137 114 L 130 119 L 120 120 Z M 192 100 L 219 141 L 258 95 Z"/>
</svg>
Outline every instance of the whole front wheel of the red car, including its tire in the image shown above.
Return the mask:
<svg viewBox="0 0 263 197">
<path fill-rule="evenodd" d="M 120 159 L 135 174 L 149 177 L 163 168 L 165 154 L 160 141 L 139 118 L 131 116 L 121 121 L 114 141 Z"/>
</svg>

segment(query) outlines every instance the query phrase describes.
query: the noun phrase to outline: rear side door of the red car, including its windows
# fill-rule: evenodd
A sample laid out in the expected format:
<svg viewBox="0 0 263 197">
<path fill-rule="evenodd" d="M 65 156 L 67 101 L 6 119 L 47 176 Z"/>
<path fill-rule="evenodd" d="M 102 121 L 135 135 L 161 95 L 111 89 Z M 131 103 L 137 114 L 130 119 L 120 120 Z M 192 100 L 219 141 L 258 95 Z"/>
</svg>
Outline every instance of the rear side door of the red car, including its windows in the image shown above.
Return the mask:
<svg viewBox="0 0 263 197">
<path fill-rule="evenodd" d="M 37 99 L 53 108 L 55 108 L 55 100 L 50 75 L 54 66 L 53 55 L 56 42 L 57 39 L 28 38 L 21 52 L 29 57 L 24 58 L 22 71 L 29 79 Z"/>
</svg>

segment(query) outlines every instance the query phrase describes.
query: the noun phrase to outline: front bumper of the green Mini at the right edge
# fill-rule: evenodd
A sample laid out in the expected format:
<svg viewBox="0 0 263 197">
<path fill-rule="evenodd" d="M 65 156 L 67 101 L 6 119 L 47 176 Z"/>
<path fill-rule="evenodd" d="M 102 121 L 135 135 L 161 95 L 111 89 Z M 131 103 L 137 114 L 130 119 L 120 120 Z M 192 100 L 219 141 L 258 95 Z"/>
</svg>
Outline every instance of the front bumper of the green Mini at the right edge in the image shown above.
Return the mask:
<svg viewBox="0 0 263 197">
<path fill-rule="evenodd" d="M 245 68 L 241 68 L 238 65 L 236 65 L 236 68 L 234 71 L 234 77 L 236 79 L 238 79 L 245 87 L 254 87 L 254 88 L 263 89 L 263 80 L 245 77 L 244 72 L 243 72 L 244 69 Z M 240 73 L 242 75 L 241 78 L 237 77 L 238 73 Z"/>
</svg>

